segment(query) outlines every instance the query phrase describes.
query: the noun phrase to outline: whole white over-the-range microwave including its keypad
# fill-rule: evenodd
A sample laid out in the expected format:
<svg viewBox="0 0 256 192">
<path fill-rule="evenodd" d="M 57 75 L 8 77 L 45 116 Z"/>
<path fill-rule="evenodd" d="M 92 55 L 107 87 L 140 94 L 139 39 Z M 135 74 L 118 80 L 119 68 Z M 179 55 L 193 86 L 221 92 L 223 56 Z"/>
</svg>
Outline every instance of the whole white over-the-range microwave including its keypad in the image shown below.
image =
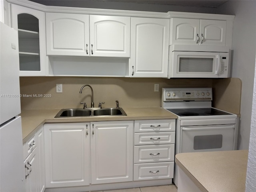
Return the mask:
<svg viewBox="0 0 256 192">
<path fill-rule="evenodd" d="M 228 47 L 171 45 L 168 78 L 228 78 Z"/>
</svg>

